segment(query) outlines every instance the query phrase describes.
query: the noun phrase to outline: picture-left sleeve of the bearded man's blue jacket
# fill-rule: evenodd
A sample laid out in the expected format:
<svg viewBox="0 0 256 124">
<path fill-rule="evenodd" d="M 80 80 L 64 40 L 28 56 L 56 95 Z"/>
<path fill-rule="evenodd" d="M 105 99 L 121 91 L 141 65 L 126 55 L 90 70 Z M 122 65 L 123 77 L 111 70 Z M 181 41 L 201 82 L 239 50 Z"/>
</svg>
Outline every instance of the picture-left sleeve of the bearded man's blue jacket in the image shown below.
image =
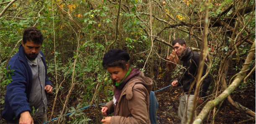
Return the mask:
<svg viewBox="0 0 256 124">
<path fill-rule="evenodd" d="M 17 60 L 18 61 L 18 60 Z M 10 107 L 13 109 L 13 112 L 16 114 L 16 117 L 19 117 L 22 112 L 29 111 L 29 101 L 27 98 L 26 90 L 26 72 L 23 69 L 23 66 L 18 62 L 13 62 L 10 65 L 10 70 L 14 75 L 11 75 L 13 80 L 7 85 L 5 99 L 8 99 Z"/>
</svg>

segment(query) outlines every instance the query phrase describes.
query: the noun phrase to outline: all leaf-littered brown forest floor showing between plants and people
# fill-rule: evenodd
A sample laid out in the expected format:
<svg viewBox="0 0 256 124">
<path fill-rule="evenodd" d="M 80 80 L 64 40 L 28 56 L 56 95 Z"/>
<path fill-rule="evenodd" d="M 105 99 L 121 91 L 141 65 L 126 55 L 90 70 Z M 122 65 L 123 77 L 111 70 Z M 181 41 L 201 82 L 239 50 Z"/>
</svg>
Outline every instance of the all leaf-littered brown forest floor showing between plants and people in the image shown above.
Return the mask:
<svg viewBox="0 0 256 124">
<path fill-rule="evenodd" d="M 169 86 L 170 83 L 160 83 L 158 82 L 158 88 L 161 89 L 163 87 Z M 180 124 L 180 120 L 178 119 L 178 106 L 179 106 L 179 96 L 182 93 L 182 87 L 177 87 L 172 89 L 171 94 L 170 87 L 165 88 L 163 90 L 160 90 L 158 92 L 155 92 L 155 96 L 158 100 L 158 112 L 157 115 L 161 118 L 161 124 Z M 65 99 L 65 95 L 62 95 Z M 53 100 L 54 95 L 50 95 L 49 99 L 50 101 Z M 75 96 L 76 97 L 76 96 Z M 100 95 L 101 98 L 103 97 L 103 94 Z M 244 107 L 247 107 L 248 109 L 251 109 L 255 111 L 255 89 L 254 87 L 251 87 L 250 89 L 246 89 L 243 93 L 234 92 L 231 94 L 231 97 L 235 102 L 240 103 Z M 75 101 L 74 101 L 75 102 Z M 51 102 L 53 103 L 53 102 Z M 50 106 L 51 106 L 50 103 Z M 78 102 L 70 103 L 70 106 L 68 105 L 68 108 L 71 106 L 76 107 Z M 100 100 L 99 103 L 105 103 L 103 99 Z M 197 109 L 197 114 L 202 110 L 203 106 L 202 104 L 199 109 Z M 101 106 L 102 107 L 102 106 Z M 100 107 L 100 110 L 101 110 Z M 217 106 L 218 108 L 219 106 Z M 49 107 L 48 112 L 51 112 L 51 108 Z M 87 109 L 84 109 L 83 112 L 86 114 L 86 116 L 90 119 L 92 119 L 88 124 L 96 124 L 96 107 L 88 107 Z M 68 113 L 68 112 L 67 112 Z M 100 113 L 100 112 L 99 112 Z M 56 116 L 59 114 L 59 110 L 55 110 L 54 115 Z M 99 120 L 103 119 L 102 114 L 99 114 L 100 118 Z M 206 119 L 202 122 L 202 124 L 211 124 L 211 119 L 213 117 L 212 111 L 210 115 L 207 116 Z M 48 118 L 50 118 L 50 114 L 48 114 Z M 241 122 L 244 120 L 250 119 L 246 116 L 243 112 L 239 112 L 235 107 L 233 107 L 227 100 L 225 100 L 222 104 L 222 106 L 219 109 L 219 112 L 217 112 L 215 117 L 215 124 L 237 124 L 237 122 Z M 71 118 L 66 117 L 66 121 L 72 121 Z M 160 124 L 160 121 L 158 121 Z M 255 121 L 248 121 L 246 123 L 242 124 L 255 124 Z"/>
</svg>

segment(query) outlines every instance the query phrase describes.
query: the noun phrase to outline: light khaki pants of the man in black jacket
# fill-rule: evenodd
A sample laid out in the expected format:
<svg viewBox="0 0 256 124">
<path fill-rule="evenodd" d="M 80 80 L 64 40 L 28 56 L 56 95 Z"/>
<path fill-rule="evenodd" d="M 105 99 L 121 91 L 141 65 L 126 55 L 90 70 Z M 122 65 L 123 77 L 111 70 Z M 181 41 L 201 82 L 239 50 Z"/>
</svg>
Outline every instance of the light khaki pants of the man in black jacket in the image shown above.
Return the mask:
<svg viewBox="0 0 256 124">
<path fill-rule="evenodd" d="M 189 119 L 190 109 L 191 109 L 191 106 L 193 106 L 193 99 L 194 99 L 194 95 L 190 94 L 188 97 L 188 95 L 186 93 L 181 94 L 180 104 L 178 107 L 178 119 L 181 120 L 181 124 L 186 124 L 186 122 Z M 188 102 L 188 104 L 187 104 L 187 102 Z M 196 115 L 197 114 L 195 111 L 195 116 Z"/>
</svg>

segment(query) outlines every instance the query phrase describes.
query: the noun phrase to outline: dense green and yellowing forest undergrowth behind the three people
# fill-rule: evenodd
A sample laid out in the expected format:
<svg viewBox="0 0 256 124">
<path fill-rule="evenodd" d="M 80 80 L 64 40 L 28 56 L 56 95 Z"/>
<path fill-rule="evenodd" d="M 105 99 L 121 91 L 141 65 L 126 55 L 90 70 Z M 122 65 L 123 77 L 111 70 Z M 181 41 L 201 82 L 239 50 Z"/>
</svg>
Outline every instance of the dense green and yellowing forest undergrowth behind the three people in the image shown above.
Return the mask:
<svg viewBox="0 0 256 124">
<path fill-rule="evenodd" d="M 207 64 L 212 65 L 209 74 L 213 80 L 207 100 L 212 100 L 224 90 L 221 75 L 224 75 L 229 85 L 233 76 L 243 67 L 252 42 L 255 41 L 255 0 L 209 2 Z M 61 113 L 63 115 L 98 104 L 99 100 L 109 102 L 112 99 L 111 77 L 101 66 L 107 47 L 126 50 L 131 56 L 130 66 L 140 68 L 146 76 L 155 80 L 153 90 L 162 87 L 162 83 L 171 84 L 172 80 L 179 78 L 183 74 L 182 68 L 177 66 L 173 72 L 167 72 L 163 59 L 171 53 L 171 42 L 175 38 L 186 40 L 188 47 L 200 52 L 204 30 L 204 21 L 201 20 L 205 15 L 204 1 L 124 0 L 120 12 L 118 3 L 117 0 L 14 2 L 0 15 L 0 108 L 3 109 L 6 84 L 11 82 L 11 71 L 5 69 L 6 65 L 18 51 L 23 30 L 31 26 L 36 26 L 44 35 L 41 50 L 46 57 L 48 77 L 54 88 L 49 99 L 48 116 L 51 119 Z M 0 4 L 0 11 L 7 6 L 8 3 Z M 245 7 L 248 9 L 243 9 Z M 255 55 L 248 73 L 253 67 Z M 255 88 L 255 71 L 245 82 L 240 83 L 235 92 L 243 94 L 251 90 L 251 87 Z M 82 111 L 70 117 L 72 119 L 62 118 L 61 121 L 79 124 L 100 121 L 95 118 L 91 120 Z"/>
</svg>

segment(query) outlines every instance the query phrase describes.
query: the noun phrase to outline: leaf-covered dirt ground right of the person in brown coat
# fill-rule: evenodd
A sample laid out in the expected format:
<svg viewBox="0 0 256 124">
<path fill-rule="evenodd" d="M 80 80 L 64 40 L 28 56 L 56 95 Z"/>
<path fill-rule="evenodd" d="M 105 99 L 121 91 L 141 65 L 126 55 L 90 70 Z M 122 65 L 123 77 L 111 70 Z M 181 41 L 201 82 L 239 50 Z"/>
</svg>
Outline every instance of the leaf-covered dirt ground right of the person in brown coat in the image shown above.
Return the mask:
<svg viewBox="0 0 256 124">
<path fill-rule="evenodd" d="M 163 84 L 163 87 L 168 86 L 168 84 Z M 250 91 L 249 89 L 247 91 Z M 234 93 L 231 95 L 235 102 L 240 103 L 244 107 L 251 109 L 255 112 L 255 89 L 252 89 L 253 92 L 244 92 L 243 94 Z M 178 119 L 178 106 L 179 106 L 179 96 L 182 93 L 182 87 L 177 87 L 173 89 L 169 96 L 170 88 L 160 90 L 155 93 L 155 96 L 158 99 L 159 110 L 158 116 L 161 118 L 162 124 L 179 124 L 181 121 Z M 205 103 L 204 103 L 205 104 Z M 202 104 L 201 107 L 197 110 L 197 114 L 204 107 Z M 219 106 L 217 106 L 218 108 Z M 212 111 L 210 115 L 202 122 L 202 124 L 210 124 L 213 117 Z M 215 124 L 237 124 L 238 122 L 250 119 L 243 112 L 235 109 L 227 100 L 225 100 L 222 106 L 219 109 L 219 112 L 215 117 Z M 242 124 L 255 124 L 254 121 L 248 121 Z"/>
</svg>

